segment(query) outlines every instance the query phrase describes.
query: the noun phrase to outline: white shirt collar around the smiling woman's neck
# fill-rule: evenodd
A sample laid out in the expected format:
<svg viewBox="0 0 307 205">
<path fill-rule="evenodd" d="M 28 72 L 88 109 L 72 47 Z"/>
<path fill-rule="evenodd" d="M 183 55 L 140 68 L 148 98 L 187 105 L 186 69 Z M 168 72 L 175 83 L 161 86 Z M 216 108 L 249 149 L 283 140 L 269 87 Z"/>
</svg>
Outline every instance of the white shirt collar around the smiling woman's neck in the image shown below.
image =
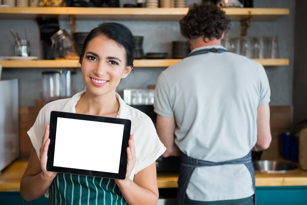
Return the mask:
<svg viewBox="0 0 307 205">
<path fill-rule="evenodd" d="M 78 101 L 80 100 L 81 96 L 84 95 L 86 90 L 81 91 L 80 93 L 75 94 L 74 96 L 72 96 L 72 98 L 70 98 L 67 103 L 64 105 L 64 107 L 60 110 L 61 112 L 72 112 L 72 113 L 76 113 L 76 104 L 78 103 Z M 118 93 L 115 93 L 115 97 L 118 99 L 119 101 L 119 111 L 117 113 L 117 118 L 122 118 L 122 119 L 127 119 L 127 120 L 131 120 L 131 113 L 130 113 L 130 109 L 129 106 L 125 103 L 125 101 L 119 96 Z"/>
</svg>

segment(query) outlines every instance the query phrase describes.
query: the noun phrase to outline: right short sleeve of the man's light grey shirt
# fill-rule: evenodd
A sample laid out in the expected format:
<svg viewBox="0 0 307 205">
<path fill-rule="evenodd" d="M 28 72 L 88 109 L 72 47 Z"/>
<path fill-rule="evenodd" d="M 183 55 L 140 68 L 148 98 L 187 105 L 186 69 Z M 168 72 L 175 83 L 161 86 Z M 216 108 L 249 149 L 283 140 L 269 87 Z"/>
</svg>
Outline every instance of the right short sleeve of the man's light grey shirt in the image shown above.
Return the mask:
<svg viewBox="0 0 307 205">
<path fill-rule="evenodd" d="M 271 89 L 266 71 L 261 64 L 258 64 L 259 78 L 260 78 L 260 95 L 258 106 L 267 104 L 271 101 Z"/>
</svg>

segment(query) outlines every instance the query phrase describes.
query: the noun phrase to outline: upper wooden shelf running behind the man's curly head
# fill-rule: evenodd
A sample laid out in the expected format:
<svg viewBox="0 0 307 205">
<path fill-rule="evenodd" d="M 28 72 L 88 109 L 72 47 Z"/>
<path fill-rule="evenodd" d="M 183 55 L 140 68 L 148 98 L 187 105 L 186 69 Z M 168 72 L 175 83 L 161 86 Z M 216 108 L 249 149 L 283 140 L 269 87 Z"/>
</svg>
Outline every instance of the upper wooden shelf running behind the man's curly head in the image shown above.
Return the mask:
<svg viewBox="0 0 307 205">
<path fill-rule="evenodd" d="M 285 8 L 223 8 L 231 20 L 252 16 L 252 20 L 271 21 L 290 14 Z M 177 21 L 188 8 L 78 8 L 78 7 L 0 7 L 0 18 L 33 19 L 54 17 L 68 19 L 166 20 Z"/>
</svg>

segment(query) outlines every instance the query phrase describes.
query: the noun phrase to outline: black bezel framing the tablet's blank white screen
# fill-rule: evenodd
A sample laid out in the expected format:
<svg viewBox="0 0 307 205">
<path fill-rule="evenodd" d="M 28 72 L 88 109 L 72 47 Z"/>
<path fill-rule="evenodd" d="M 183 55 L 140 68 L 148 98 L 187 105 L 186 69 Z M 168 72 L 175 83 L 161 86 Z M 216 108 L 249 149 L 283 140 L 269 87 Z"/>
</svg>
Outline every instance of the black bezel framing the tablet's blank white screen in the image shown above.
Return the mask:
<svg viewBox="0 0 307 205">
<path fill-rule="evenodd" d="M 121 142 L 121 148 L 120 148 L 121 151 L 120 151 L 118 172 L 98 171 L 98 170 L 83 169 L 83 168 L 55 166 L 54 160 L 55 160 L 55 150 L 56 150 L 56 135 L 57 135 L 58 118 L 122 125 L 123 126 L 122 142 Z M 70 113 L 70 112 L 52 111 L 50 113 L 50 133 L 49 133 L 50 144 L 49 144 L 48 153 L 47 153 L 47 156 L 48 156 L 47 166 L 46 166 L 47 171 L 87 175 L 87 176 L 97 176 L 97 177 L 105 177 L 105 178 L 111 178 L 111 179 L 125 179 L 126 178 L 126 168 L 127 168 L 127 151 L 126 150 L 127 150 L 127 147 L 129 146 L 128 141 L 130 139 L 130 129 L 131 129 L 131 120 L 114 118 L 114 117 L 103 117 L 103 116 L 96 116 L 96 115 L 85 115 L 85 114 Z"/>
</svg>

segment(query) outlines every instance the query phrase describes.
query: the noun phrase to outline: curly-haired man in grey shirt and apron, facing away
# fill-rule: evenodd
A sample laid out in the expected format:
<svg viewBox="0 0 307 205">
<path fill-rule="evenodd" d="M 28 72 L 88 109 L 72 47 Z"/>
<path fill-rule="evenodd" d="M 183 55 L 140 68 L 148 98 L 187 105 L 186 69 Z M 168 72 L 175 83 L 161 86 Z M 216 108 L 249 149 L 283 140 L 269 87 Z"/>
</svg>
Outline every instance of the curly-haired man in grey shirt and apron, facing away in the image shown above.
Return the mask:
<svg viewBox="0 0 307 205">
<path fill-rule="evenodd" d="M 192 52 L 160 74 L 154 104 L 162 156 L 181 156 L 177 204 L 256 204 L 251 149 L 271 142 L 266 72 L 220 45 L 230 20 L 216 5 L 192 5 L 180 28 Z"/>
</svg>

